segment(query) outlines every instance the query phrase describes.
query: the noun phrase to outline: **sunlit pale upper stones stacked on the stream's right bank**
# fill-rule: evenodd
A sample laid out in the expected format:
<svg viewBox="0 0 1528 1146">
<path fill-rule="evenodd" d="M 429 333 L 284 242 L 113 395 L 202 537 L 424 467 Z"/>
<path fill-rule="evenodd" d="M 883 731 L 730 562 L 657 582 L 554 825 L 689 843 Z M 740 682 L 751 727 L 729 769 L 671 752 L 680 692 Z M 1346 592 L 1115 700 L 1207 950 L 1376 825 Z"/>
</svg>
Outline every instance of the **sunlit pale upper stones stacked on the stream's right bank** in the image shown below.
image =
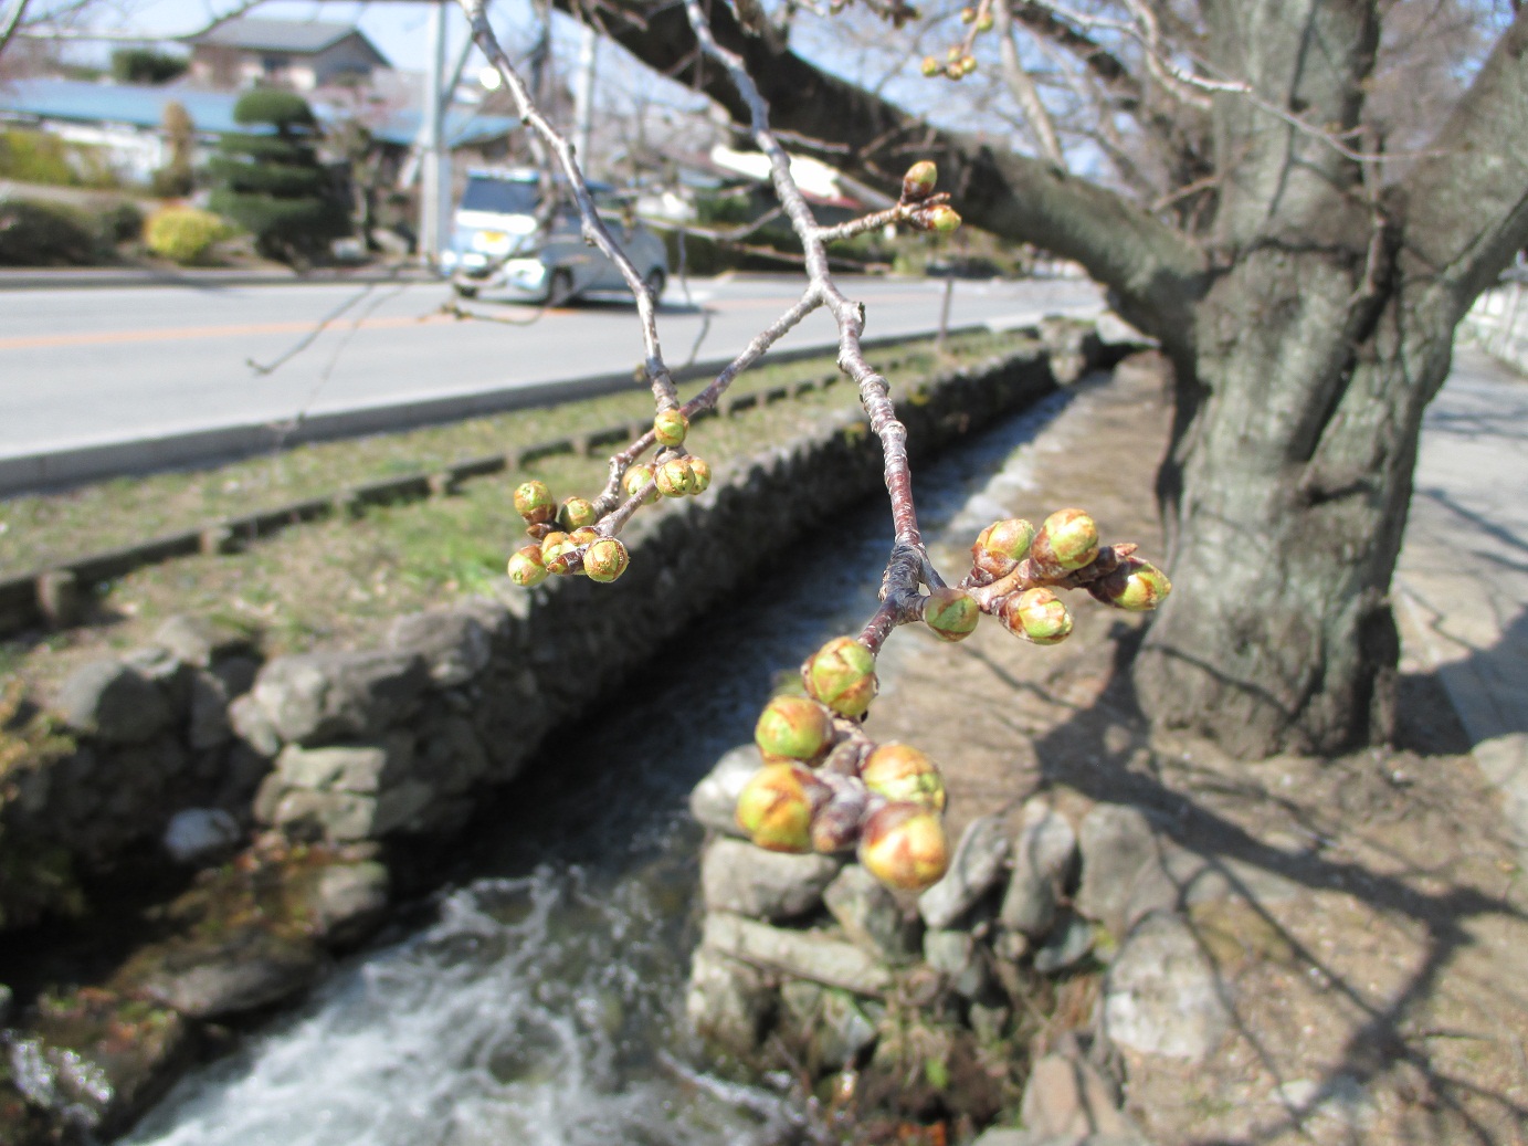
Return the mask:
<svg viewBox="0 0 1528 1146">
<path fill-rule="evenodd" d="M 898 989 L 902 998 L 953 996 L 953 1013 L 992 1041 L 1008 1024 L 1012 992 L 1030 976 L 1102 966 L 1086 1041 L 1198 1060 L 1219 1044 L 1229 1010 L 1181 912 L 1247 894 L 1248 885 L 1261 897 L 1288 891 L 1242 865 L 1178 848 L 1140 808 L 1099 804 L 1074 827 L 1034 798 L 1016 830 L 1005 816 L 970 822 L 946 877 L 909 903 L 842 857 L 767 853 L 738 839 L 736 793 L 758 766 L 753 746 L 733 749 L 691 796 L 711 833 L 686 1010 L 697 1033 L 744 1059 L 778 1024 L 805 1042 L 819 1070 L 865 1062 Z M 1036 1065 L 1025 1099 L 1036 1122 L 1015 1146 L 1054 1135 L 1138 1141 L 1100 1099 L 1112 1091 L 1077 1045 L 1060 1059 Z M 1065 1102 L 1047 1089 L 1062 1076 L 1073 1079 Z M 1086 1118 L 1079 1103 L 1091 1111 Z M 1010 1138 L 993 1146 L 999 1141 Z"/>
</svg>

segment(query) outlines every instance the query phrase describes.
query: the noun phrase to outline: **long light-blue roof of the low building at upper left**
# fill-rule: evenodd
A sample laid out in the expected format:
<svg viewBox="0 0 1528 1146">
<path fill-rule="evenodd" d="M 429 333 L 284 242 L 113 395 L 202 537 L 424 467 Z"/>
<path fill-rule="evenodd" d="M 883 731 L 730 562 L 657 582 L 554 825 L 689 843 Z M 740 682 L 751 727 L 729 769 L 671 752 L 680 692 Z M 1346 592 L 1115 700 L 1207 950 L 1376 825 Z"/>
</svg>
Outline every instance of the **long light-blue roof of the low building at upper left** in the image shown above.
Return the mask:
<svg viewBox="0 0 1528 1146">
<path fill-rule="evenodd" d="M 0 119 L 53 119 L 72 124 L 125 124 L 144 130 L 157 128 L 165 121 L 165 104 L 185 107 L 202 134 L 249 131 L 234 122 L 238 95 L 200 92 L 191 87 L 136 87 L 130 84 L 92 84 L 79 79 L 17 79 L 0 84 Z M 313 104 L 321 122 L 341 118 L 341 112 L 322 102 Z M 419 138 L 420 113 L 400 108 L 371 127 L 373 139 L 406 147 Z M 478 116 L 469 108 L 452 107 L 446 113 L 446 139 L 451 147 L 465 147 L 497 139 L 520 124 L 510 116 Z"/>
</svg>

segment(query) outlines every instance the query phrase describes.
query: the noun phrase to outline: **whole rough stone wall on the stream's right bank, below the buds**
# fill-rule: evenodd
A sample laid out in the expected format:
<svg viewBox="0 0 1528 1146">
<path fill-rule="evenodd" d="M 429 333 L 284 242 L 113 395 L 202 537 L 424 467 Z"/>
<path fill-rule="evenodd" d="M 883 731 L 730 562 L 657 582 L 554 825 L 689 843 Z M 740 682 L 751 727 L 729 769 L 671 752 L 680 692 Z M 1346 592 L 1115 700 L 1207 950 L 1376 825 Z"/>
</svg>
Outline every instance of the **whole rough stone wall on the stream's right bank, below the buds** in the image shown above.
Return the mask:
<svg viewBox="0 0 1528 1146">
<path fill-rule="evenodd" d="M 733 749 L 691 795 L 707 828 L 706 915 L 686 1013 L 712 1048 L 755 1070 L 785 1047 L 814 1077 L 902 1080 L 889 1105 L 908 1117 L 1018 1111 L 1024 1131 L 981 1146 L 1144 1146 L 1120 1109 L 1120 1051 L 1196 1062 L 1230 1024 L 1181 912 L 1267 876 L 1177 847 L 1141 808 L 1068 819 L 1036 796 L 972 821 L 946 877 L 898 895 L 853 856 L 743 839 L 733 808 L 759 767 L 752 744 Z M 1068 981 L 1071 1005 L 1089 1002 L 1042 1025 L 1036 1047 L 1025 1012 Z"/>
</svg>

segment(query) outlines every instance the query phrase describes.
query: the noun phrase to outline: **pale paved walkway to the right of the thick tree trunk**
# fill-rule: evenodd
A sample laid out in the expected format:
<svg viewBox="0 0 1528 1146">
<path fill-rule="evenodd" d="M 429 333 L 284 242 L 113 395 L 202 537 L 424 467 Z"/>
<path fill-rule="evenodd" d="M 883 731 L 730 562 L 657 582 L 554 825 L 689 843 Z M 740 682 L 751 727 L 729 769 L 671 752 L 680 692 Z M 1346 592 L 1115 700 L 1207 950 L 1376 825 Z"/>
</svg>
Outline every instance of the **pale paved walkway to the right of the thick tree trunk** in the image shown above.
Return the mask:
<svg viewBox="0 0 1528 1146">
<path fill-rule="evenodd" d="M 1458 350 L 1415 486 L 1403 633 L 1438 669 L 1528 857 L 1528 379 Z"/>
</svg>

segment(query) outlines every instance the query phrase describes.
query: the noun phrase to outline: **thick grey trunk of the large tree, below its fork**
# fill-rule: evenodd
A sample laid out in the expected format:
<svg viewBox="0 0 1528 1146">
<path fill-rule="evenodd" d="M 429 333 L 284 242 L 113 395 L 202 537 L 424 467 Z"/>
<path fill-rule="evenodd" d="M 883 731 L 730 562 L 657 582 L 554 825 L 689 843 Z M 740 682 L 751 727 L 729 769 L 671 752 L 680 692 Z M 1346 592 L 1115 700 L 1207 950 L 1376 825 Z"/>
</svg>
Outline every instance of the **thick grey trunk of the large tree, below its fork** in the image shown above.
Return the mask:
<svg viewBox="0 0 1528 1146">
<path fill-rule="evenodd" d="M 1392 730 L 1390 575 L 1456 316 L 1423 286 L 1363 298 L 1357 272 L 1264 249 L 1198 307 L 1160 490 L 1174 594 L 1134 680 L 1155 721 L 1236 755 Z"/>
</svg>

